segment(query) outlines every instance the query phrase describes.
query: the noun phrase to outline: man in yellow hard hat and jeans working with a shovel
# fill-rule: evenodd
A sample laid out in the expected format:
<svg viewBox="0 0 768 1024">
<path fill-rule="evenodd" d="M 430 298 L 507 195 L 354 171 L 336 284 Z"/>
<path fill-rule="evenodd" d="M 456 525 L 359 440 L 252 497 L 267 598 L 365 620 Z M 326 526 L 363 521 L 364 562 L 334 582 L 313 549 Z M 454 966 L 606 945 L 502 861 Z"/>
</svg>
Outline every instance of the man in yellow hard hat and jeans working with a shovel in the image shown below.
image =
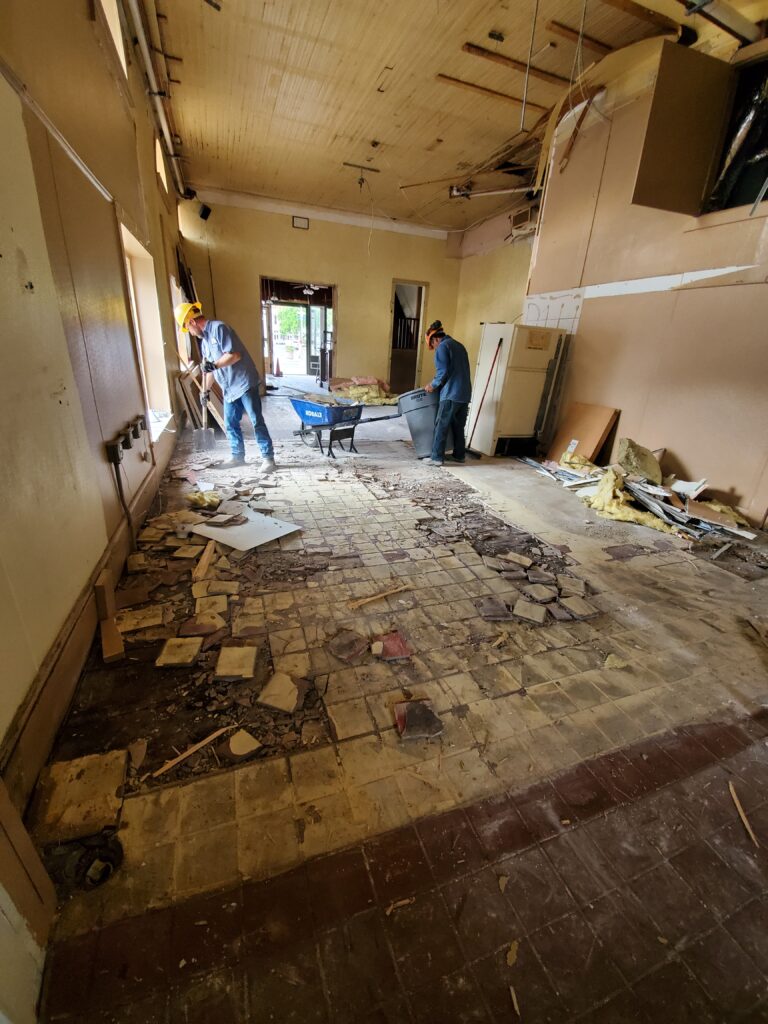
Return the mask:
<svg viewBox="0 0 768 1024">
<path fill-rule="evenodd" d="M 209 321 L 203 315 L 199 302 L 181 302 L 174 309 L 176 323 L 184 332 L 200 339 L 203 358 L 203 390 L 201 404 L 210 396 L 213 380 L 224 397 L 224 426 L 231 449 L 231 458 L 225 466 L 245 466 L 246 444 L 240 421 L 247 413 L 261 451 L 261 472 L 273 473 L 274 451 L 272 439 L 261 413 L 259 384 L 261 378 L 248 349 L 236 332 L 223 321 Z"/>
</svg>

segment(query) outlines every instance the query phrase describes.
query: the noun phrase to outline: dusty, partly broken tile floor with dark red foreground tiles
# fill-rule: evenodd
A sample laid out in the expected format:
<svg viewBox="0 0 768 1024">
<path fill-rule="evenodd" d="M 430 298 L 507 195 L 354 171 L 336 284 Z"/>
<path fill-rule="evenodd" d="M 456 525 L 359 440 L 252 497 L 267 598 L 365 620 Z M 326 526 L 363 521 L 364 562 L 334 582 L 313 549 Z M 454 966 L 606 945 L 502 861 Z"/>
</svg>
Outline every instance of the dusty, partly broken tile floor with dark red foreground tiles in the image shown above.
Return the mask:
<svg viewBox="0 0 768 1024">
<path fill-rule="evenodd" d="M 260 599 L 257 680 L 310 679 L 313 726 L 278 753 L 252 698 L 195 707 L 208 663 L 156 670 L 160 639 L 132 641 L 124 676 L 91 663 L 57 760 L 147 738 L 161 765 L 169 706 L 190 742 L 233 720 L 268 741 L 134 785 L 124 864 L 62 906 L 44 1019 L 768 1020 L 768 648 L 743 623 L 765 579 L 600 520 L 514 461 L 423 466 L 399 421 L 327 460 L 265 404 L 268 504 L 302 532 L 232 563 L 232 604 Z M 169 481 L 164 508 L 185 489 Z M 475 601 L 527 583 L 483 561 L 500 531 L 585 580 L 599 614 L 483 620 Z M 611 556 L 628 544 L 641 553 Z M 344 628 L 398 629 L 414 655 L 338 662 Z M 399 739 L 410 697 L 440 736 Z"/>
</svg>

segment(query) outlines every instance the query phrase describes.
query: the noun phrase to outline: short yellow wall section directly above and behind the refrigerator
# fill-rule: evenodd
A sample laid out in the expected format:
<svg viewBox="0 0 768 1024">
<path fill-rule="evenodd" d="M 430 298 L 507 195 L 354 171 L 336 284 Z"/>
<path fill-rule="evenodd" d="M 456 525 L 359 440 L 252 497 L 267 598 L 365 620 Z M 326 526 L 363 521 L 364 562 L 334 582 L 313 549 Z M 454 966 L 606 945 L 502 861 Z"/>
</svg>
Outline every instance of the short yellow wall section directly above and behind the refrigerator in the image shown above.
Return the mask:
<svg viewBox="0 0 768 1024">
<path fill-rule="evenodd" d="M 460 261 L 456 319 L 445 327 L 464 343 L 473 373 L 480 344 L 480 325 L 509 324 L 520 315 L 529 266 L 528 239 Z"/>
</svg>

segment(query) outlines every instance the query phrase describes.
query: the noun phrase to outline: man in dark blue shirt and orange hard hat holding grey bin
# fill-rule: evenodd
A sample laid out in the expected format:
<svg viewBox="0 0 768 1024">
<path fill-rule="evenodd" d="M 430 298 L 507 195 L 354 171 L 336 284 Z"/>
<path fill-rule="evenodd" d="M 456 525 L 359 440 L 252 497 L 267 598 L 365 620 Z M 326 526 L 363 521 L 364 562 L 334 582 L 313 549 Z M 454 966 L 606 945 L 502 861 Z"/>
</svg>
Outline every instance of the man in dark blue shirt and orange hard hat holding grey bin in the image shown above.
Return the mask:
<svg viewBox="0 0 768 1024">
<path fill-rule="evenodd" d="M 435 375 L 432 381 L 425 385 L 424 390 L 440 392 L 429 465 L 442 465 L 445 458 L 445 438 L 451 428 L 454 431 L 454 462 L 464 462 L 467 454 L 464 427 L 467 423 L 469 400 L 472 397 L 467 350 L 460 341 L 445 334 L 439 321 L 435 321 L 427 328 L 427 344 L 434 352 Z"/>
</svg>

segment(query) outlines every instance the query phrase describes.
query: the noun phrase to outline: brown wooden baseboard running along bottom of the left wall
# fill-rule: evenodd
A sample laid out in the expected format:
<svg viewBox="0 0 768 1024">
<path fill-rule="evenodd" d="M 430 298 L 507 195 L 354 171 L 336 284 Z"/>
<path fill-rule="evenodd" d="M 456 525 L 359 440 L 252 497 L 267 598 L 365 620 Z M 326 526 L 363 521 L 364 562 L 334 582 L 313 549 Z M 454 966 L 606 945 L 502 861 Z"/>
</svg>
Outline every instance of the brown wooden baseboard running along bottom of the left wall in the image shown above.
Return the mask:
<svg viewBox="0 0 768 1024">
<path fill-rule="evenodd" d="M 174 447 L 175 436 L 173 443 L 156 446 L 156 459 L 162 461 L 147 474 L 131 504 L 131 515 L 136 523 L 146 515 Z M 10 799 L 19 813 L 24 813 L 37 777 L 48 760 L 98 627 L 93 593 L 96 579 L 102 569 L 109 568 L 119 580 L 129 552 L 130 531 L 124 519 L 81 591 L 8 730 L 0 752 L 0 766 Z"/>
</svg>

